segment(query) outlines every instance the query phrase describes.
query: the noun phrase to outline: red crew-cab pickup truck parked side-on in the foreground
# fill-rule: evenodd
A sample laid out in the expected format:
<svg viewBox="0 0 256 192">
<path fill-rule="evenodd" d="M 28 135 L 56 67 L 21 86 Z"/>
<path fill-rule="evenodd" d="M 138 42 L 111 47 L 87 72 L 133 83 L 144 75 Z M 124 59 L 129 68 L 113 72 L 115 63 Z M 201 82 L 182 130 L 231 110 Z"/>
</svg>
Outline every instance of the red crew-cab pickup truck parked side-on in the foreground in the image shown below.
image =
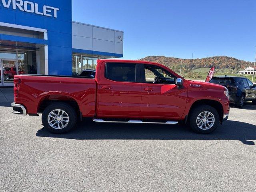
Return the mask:
<svg viewBox="0 0 256 192">
<path fill-rule="evenodd" d="M 15 75 L 13 113 L 38 116 L 61 134 L 77 120 L 177 124 L 208 134 L 228 118 L 228 90 L 185 80 L 152 62 L 98 60 L 94 76 Z"/>
</svg>

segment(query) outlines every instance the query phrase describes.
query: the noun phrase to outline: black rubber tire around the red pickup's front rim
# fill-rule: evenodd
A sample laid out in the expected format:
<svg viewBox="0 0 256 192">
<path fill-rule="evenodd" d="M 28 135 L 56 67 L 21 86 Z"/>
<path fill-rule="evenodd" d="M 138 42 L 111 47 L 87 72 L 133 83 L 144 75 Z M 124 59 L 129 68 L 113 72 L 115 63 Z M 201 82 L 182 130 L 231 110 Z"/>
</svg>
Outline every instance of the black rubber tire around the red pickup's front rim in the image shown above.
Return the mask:
<svg viewBox="0 0 256 192">
<path fill-rule="evenodd" d="M 212 124 L 208 123 L 208 121 L 206 121 L 210 127 L 208 129 L 206 129 L 206 125 L 204 125 L 202 128 L 200 128 L 198 126 L 198 123 L 200 123 L 200 120 L 198 120 L 197 118 L 202 112 L 210 112 L 211 116 L 214 117 L 214 122 L 212 122 Z M 219 116 L 217 110 L 209 105 L 201 105 L 201 106 L 196 106 L 195 108 L 193 108 L 189 114 L 188 120 L 189 120 L 190 128 L 194 132 L 199 133 L 199 134 L 209 134 L 209 133 L 213 132 L 220 124 L 220 116 Z M 208 118 L 207 118 L 207 120 L 208 120 Z M 204 124 L 203 120 L 202 120 L 202 124 Z"/>
</svg>

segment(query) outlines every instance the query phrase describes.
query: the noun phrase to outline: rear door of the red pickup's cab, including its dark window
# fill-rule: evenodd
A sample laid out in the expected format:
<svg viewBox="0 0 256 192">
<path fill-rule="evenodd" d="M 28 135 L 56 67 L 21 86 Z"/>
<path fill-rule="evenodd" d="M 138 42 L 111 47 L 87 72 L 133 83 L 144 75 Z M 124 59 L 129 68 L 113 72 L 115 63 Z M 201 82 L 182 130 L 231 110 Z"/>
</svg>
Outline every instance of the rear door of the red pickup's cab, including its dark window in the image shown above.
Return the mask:
<svg viewBox="0 0 256 192">
<path fill-rule="evenodd" d="M 139 116 L 141 94 L 138 64 L 128 62 L 102 64 L 98 82 L 98 117 Z"/>
</svg>

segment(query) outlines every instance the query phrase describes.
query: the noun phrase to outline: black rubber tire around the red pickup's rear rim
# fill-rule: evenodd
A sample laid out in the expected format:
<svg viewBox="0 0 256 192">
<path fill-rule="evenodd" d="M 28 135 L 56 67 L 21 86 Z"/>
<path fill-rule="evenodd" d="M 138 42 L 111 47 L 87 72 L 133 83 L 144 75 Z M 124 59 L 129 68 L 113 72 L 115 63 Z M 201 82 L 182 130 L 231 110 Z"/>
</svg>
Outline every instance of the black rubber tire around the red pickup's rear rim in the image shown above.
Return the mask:
<svg viewBox="0 0 256 192">
<path fill-rule="evenodd" d="M 52 126 L 50 126 L 50 124 L 48 123 L 48 115 L 53 111 L 53 110 L 57 110 L 57 109 L 60 109 L 61 111 L 61 114 L 62 114 L 62 111 L 66 112 L 66 114 L 68 115 L 68 122 L 67 123 L 64 123 L 64 126 L 63 128 L 60 128 L 60 129 L 57 129 L 57 128 L 53 128 Z M 60 114 L 60 115 L 61 115 Z M 66 115 L 65 115 L 66 116 Z M 57 116 L 54 116 L 54 118 L 58 118 Z M 53 118 L 53 119 L 54 119 Z M 65 117 L 63 117 L 65 118 Z M 67 119 L 66 119 L 67 120 Z M 61 120 L 62 121 L 62 120 Z M 64 119 L 63 119 L 64 121 Z M 69 104 L 67 103 L 64 103 L 64 102 L 55 102 L 55 103 L 52 103 L 50 104 L 48 107 L 45 108 L 43 114 L 42 114 L 42 123 L 44 125 L 44 127 L 54 133 L 54 134 L 63 134 L 63 133 L 66 133 L 66 132 L 69 132 L 70 130 L 72 130 L 75 126 L 76 126 L 76 121 L 77 121 L 77 115 L 76 115 L 76 111 L 74 110 L 74 108 L 72 106 L 70 106 Z M 54 126 L 62 126 L 62 123 L 60 122 L 57 123 L 57 121 L 54 121 L 56 122 L 56 124 Z M 54 123 L 53 122 L 53 123 Z"/>
</svg>

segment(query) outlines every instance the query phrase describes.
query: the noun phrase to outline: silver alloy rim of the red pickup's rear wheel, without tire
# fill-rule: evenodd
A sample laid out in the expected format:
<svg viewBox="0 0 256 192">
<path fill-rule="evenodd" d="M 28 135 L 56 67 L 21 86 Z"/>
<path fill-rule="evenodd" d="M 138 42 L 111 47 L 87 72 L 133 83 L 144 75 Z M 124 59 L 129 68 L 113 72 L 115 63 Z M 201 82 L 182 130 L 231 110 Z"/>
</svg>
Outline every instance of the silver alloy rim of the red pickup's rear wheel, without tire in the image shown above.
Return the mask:
<svg viewBox="0 0 256 192">
<path fill-rule="evenodd" d="M 61 109 L 55 109 L 48 114 L 48 123 L 54 129 L 63 129 L 68 125 L 68 114 Z"/>
</svg>

